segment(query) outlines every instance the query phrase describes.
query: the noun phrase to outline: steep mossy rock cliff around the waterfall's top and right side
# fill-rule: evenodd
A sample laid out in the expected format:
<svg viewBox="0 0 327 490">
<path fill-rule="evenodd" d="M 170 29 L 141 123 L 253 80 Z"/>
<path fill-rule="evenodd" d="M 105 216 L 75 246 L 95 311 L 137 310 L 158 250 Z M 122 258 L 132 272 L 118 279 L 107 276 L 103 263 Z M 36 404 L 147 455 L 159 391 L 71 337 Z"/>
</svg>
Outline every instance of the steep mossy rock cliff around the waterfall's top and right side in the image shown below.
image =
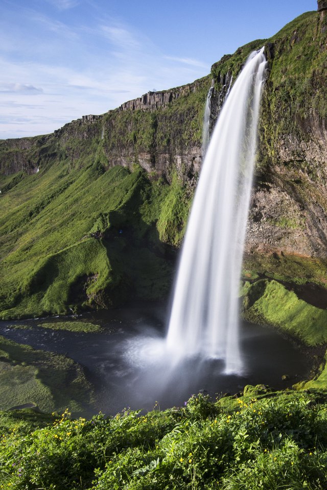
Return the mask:
<svg viewBox="0 0 327 490">
<path fill-rule="evenodd" d="M 320 3 L 320 10 L 324 8 Z M 212 124 L 230 80 L 265 45 L 268 60 L 246 251 L 327 256 L 327 19 L 309 12 L 212 67 Z"/>
</svg>

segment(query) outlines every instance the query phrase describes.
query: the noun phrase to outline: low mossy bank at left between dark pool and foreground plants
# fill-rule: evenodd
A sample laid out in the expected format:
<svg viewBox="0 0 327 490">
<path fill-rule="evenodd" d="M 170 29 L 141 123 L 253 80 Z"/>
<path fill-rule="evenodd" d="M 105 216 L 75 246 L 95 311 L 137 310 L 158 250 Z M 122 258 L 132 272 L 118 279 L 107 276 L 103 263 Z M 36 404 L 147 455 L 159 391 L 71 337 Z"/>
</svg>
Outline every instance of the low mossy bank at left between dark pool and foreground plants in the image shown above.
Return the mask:
<svg viewBox="0 0 327 490">
<path fill-rule="evenodd" d="M 48 412 L 94 412 L 94 389 L 72 359 L 0 336 L 0 368 L 2 410 L 27 404 Z"/>
</svg>

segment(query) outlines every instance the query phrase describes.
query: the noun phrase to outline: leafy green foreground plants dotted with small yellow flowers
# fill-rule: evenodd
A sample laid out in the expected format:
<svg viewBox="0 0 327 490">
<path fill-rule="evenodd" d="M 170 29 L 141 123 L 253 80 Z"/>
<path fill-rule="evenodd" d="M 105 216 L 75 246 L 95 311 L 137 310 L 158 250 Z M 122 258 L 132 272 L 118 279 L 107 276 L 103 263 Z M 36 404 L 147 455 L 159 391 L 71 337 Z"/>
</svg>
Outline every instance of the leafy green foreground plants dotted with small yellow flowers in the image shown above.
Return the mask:
<svg viewBox="0 0 327 490">
<path fill-rule="evenodd" d="M 324 391 L 247 387 L 229 401 L 90 420 L 2 412 L 0 488 L 326 488 Z"/>
</svg>

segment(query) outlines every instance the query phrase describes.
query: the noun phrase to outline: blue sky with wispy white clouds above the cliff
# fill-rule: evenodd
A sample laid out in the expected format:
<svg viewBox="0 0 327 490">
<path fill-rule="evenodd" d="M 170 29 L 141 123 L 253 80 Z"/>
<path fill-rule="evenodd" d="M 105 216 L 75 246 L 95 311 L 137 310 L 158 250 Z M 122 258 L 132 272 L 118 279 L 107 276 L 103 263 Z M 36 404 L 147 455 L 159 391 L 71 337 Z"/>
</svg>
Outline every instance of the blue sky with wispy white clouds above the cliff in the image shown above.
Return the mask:
<svg viewBox="0 0 327 490">
<path fill-rule="evenodd" d="M 316 0 L 1 0 L 0 139 L 46 134 L 209 73 Z"/>
</svg>

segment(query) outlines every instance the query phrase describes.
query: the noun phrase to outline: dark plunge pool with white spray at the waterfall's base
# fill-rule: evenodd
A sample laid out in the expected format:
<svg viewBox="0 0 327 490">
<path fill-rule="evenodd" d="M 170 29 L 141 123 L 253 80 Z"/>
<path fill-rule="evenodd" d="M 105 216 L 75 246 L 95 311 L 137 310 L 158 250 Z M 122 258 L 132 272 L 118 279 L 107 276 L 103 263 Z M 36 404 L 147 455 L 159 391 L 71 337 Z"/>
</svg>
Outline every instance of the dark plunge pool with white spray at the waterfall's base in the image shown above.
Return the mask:
<svg viewBox="0 0 327 490">
<path fill-rule="evenodd" d="M 37 320 L 24 320 L 0 322 L 0 335 L 35 349 L 65 354 L 84 366 L 98 394 L 95 412 L 115 414 L 124 407 L 151 410 L 156 401 L 161 409 L 181 406 L 200 390 L 215 398 L 225 392 L 237 393 L 246 384 L 285 388 L 310 369 L 310 360 L 290 341 L 274 330 L 245 322 L 240 333 L 246 371 L 236 376 L 223 374 L 224 363 L 217 359 L 194 358 L 173 364 L 162 356 L 166 320 L 162 305 L 86 313 L 83 318 L 102 325 L 103 333 L 43 329 L 36 326 Z M 9 328 L 19 323 L 32 329 Z M 282 380 L 285 374 L 287 381 Z"/>
</svg>

